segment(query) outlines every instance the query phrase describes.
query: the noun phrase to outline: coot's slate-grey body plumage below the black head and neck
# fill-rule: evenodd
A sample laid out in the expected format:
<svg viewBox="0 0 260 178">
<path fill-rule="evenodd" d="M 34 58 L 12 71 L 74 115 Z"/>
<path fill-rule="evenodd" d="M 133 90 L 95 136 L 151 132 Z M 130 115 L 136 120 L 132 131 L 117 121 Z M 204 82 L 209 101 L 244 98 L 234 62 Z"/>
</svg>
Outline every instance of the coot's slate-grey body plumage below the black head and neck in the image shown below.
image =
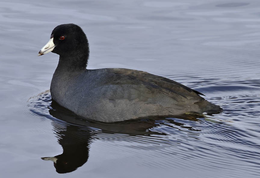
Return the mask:
<svg viewBox="0 0 260 178">
<path fill-rule="evenodd" d="M 219 106 L 178 82 L 124 68 L 70 74 L 56 70 L 51 95 L 77 115 L 102 122 L 219 110 Z"/>
</svg>

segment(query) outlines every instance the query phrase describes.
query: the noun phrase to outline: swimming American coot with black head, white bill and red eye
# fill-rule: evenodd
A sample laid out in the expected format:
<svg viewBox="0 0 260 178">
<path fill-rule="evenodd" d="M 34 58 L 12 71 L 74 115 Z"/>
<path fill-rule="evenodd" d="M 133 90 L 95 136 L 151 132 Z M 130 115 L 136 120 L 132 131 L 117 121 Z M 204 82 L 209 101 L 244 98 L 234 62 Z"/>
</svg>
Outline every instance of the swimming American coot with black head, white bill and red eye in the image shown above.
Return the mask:
<svg viewBox="0 0 260 178">
<path fill-rule="evenodd" d="M 54 28 L 38 56 L 48 52 L 60 55 L 51 80 L 52 98 L 86 119 L 116 122 L 222 110 L 202 93 L 165 77 L 124 68 L 86 69 L 88 40 L 75 24 Z"/>
</svg>

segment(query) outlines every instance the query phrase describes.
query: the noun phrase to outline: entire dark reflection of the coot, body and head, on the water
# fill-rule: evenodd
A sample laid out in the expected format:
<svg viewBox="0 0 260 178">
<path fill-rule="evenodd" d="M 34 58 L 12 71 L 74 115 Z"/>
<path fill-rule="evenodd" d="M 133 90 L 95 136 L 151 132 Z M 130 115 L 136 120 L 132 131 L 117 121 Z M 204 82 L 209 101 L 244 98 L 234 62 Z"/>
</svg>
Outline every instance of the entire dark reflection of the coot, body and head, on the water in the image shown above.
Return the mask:
<svg viewBox="0 0 260 178">
<path fill-rule="evenodd" d="M 171 119 L 167 119 L 170 116 L 156 116 L 114 123 L 93 122 L 79 118 L 55 101 L 51 102 L 49 113 L 61 120 L 53 120 L 52 125 L 54 134 L 58 138 L 58 143 L 63 148 L 63 153 L 54 157 L 43 157 L 42 159 L 53 161 L 57 173 L 72 172 L 85 164 L 88 161 L 91 140 L 100 139 L 97 136 L 100 133 L 107 134 L 107 136 L 111 136 L 111 134 L 124 134 L 125 137 L 166 135 L 166 133 L 156 131 L 153 128 L 166 122 L 167 126 L 175 125 L 182 127 L 185 124 L 176 122 L 172 118 L 198 121 L 197 118 L 199 117 L 197 115 L 185 115 L 178 117 L 171 116 Z M 193 128 L 190 127 L 189 130 L 193 130 Z"/>
</svg>

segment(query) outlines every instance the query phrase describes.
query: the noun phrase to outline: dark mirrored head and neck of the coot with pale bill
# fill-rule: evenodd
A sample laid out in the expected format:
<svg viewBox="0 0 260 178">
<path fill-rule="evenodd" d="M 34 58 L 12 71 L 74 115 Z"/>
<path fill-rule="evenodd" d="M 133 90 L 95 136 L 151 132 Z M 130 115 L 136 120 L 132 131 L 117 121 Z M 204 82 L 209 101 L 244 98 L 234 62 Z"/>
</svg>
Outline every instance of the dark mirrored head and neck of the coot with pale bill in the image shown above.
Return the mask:
<svg viewBox="0 0 260 178">
<path fill-rule="evenodd" d="M 53 128 L 63 153 L 43 160 L 54 162 L 57 173 L 68 173 L 76 170 L 88 160 L 90 134 L 76 125 L 55 125 Z"/>
</svg>

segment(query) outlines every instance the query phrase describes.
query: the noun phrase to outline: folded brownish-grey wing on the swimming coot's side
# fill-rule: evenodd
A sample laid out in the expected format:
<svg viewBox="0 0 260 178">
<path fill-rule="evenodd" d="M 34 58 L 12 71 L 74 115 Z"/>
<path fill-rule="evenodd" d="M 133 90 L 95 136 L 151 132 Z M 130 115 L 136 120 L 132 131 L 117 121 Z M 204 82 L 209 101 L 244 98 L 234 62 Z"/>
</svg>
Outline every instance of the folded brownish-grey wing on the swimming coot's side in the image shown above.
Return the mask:
<svg viewBox="0 0 260 178">
<path fill-rule="evenodd" d="M 104 69 L 103 69 L 104 71 Z M 159 103 L 171 107 L 189 106 L 204 101 L 200 92 L 190 89 L 178 82 L 165 77 L 153 75 L 144 71 L 124 68 L 107 68 L 103 76 L 103 95 L 111 100 L 138 99 L 139 101 Z"/>
</svg>

